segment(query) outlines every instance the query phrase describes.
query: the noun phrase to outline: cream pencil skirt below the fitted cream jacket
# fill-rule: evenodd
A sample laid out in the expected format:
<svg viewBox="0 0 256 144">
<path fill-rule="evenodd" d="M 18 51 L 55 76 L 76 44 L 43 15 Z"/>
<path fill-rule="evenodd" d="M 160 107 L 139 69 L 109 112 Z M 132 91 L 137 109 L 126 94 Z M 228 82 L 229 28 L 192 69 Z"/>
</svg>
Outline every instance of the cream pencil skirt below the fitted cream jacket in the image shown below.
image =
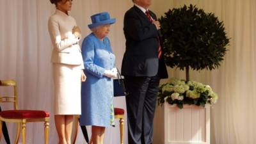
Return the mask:
<svg viewBox="0 0 256 144">
<path fill-rule="evenodd" d="M 81 115 L 81 66 L 53 63 L 54 114 Z"/>
</svg>

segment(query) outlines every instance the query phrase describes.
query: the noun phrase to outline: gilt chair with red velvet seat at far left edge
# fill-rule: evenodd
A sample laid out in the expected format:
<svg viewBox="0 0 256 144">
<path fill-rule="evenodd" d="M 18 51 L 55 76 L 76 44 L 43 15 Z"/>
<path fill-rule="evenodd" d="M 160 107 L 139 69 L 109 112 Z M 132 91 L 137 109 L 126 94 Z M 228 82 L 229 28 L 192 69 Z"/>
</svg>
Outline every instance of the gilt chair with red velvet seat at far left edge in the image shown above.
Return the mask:
<svg viewBox="0 0 256 144">
<path fill-rule="evenodd" d="M 18 110 L 17 102 L 17 83 L 14 80 L 0 80 L 0 86 L 12 86 L 13 96 L 0 96 L 0 102 L 12 102 L 14 110 L 1 111 L 0 112 L 0 129 L 2 129 L 2 122 L 14 122 L 17 123 L 17 132 L 15 138 L 15 144 L 19 142 L 20 128 L 22 131 L 22 144 L 26 143 L 26 124 L 28 122 L 44 122 L 45 144 L 48 144 L 49 133 L 49 119 L 50 114 L 47 111 L 36 110 Z M 1 140 L 2 131 L 0 131 Z"/>
</svg>

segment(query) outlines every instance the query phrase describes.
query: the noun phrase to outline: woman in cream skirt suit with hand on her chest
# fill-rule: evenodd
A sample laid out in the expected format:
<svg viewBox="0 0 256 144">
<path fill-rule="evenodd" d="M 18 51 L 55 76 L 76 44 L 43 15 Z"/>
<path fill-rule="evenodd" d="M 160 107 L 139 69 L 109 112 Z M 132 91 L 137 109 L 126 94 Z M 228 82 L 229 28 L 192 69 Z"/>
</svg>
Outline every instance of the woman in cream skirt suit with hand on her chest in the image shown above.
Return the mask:
<svg viewBox="0 0 256 144">
<path fill-rule="evenodd" d="M 68 15 L 72 0 L 50 0 L 56 12 L 49 18 L 53 44 L 54 113 L 59 144 L 71 144 L 73 116 L 81 115 L 81 81 L 85 81 L 79 40 L 81 31 Z"/>
</svg>

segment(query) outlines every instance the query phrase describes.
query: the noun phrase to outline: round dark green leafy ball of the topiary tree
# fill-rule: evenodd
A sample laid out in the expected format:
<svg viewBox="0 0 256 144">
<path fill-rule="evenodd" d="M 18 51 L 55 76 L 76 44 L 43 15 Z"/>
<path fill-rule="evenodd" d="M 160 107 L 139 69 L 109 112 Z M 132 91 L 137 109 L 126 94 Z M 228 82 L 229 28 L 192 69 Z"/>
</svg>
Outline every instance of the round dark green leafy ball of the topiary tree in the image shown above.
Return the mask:
<svg viewBox="0 0 256 144">
<path fill-rule="evenodd" d="M 192 4 L 173 8 L 159 19 L 164 38 L 166 65 L 184 70 L 218 68 L 227 51 L 229 38 L 223 22 Z"/>
</svg>

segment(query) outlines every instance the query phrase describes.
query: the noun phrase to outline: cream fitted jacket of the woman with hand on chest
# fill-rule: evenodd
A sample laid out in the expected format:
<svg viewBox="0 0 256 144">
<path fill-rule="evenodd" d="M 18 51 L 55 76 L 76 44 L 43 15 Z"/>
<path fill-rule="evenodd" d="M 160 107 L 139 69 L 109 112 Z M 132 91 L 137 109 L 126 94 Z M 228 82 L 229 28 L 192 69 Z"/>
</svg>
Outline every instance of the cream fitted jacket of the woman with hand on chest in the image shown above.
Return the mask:
<svg viewBox="0 0 256 144">
<path fill-rule="evenodd" d="M 73 35 L 72 29 L 77 26 L 76 20 L 66 13 L 56 10 L 49 18 L 48 28 L 51 35 L 53 50 L 52 63 L 83 66 L 80 38 Z"/>
</svg>

